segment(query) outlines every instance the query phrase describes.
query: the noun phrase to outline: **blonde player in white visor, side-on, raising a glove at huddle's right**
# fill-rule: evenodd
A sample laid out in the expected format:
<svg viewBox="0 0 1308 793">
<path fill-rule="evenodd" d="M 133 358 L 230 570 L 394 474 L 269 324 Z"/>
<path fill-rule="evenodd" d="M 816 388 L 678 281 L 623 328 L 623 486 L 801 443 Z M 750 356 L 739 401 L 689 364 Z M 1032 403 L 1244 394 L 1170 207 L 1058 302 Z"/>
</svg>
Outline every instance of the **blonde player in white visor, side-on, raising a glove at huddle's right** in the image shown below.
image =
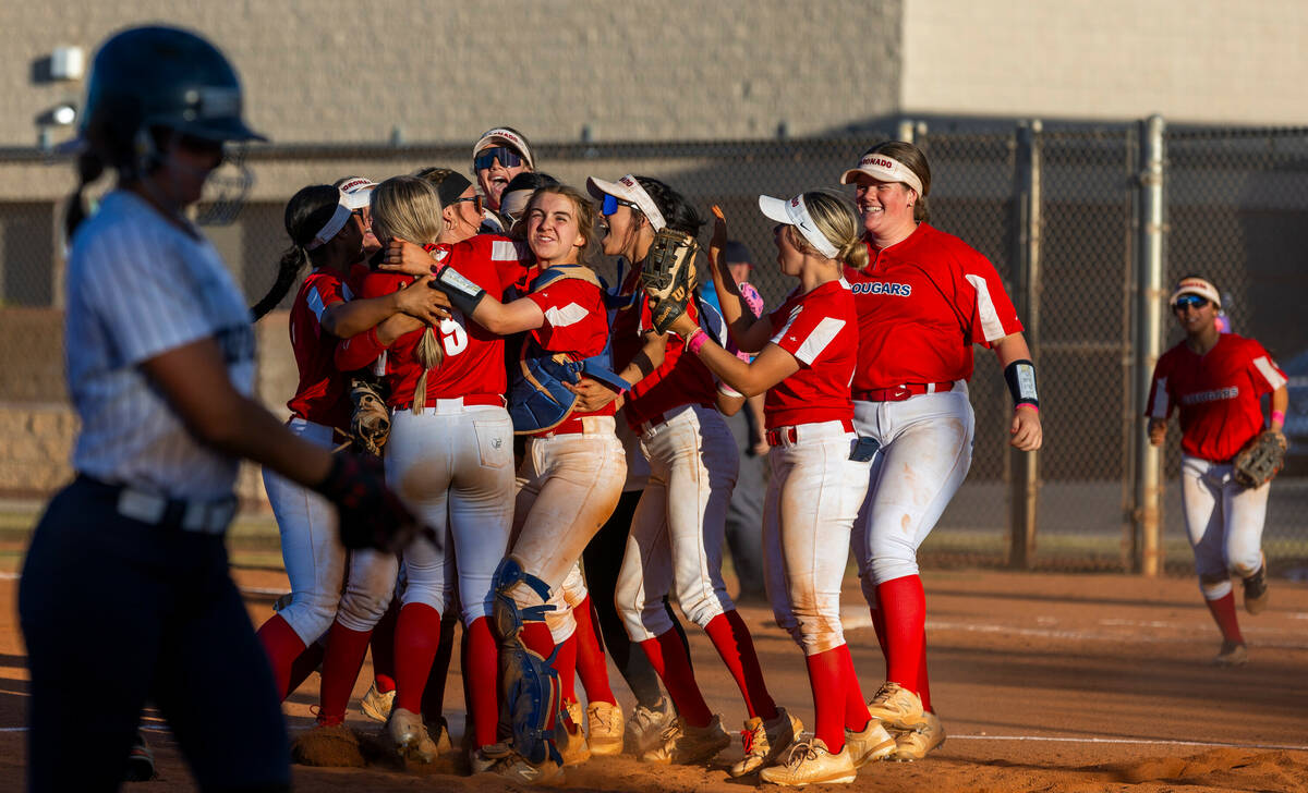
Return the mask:
<svg viewBox="0 0 1308 793">
<path fill-rule="evenodd" d="M 854 213 L 838 196 L 807 192 L 789 201 L 760 196 L 777 221 L 777 264 L 799 286 L 770 315 L 755 319 L 721 261 L 726 222 L 710 244 L 714 287 L 731 338 L 752 363 L 709 341 L 689 317 L 672 329 L 722 380 L 748 396 L 766 391 L 772 478 L 763 543 L 768 597 L 777 623 L 804 652 L 816 709 L 811 741 L 794 743 L 763 780 L 782 785 L 849 783 L 858 766 L 888 751 L 889 736 L 869 716 L 840 624 L 840 585 L 870 453 L 853 431 L 849 380 L 858 327 L 842 263 L 861 252 Z M 764 736 L 769 739 L 770 736 Z M 765 747 L 776 760 L 786 746 Z"/>
</svg>

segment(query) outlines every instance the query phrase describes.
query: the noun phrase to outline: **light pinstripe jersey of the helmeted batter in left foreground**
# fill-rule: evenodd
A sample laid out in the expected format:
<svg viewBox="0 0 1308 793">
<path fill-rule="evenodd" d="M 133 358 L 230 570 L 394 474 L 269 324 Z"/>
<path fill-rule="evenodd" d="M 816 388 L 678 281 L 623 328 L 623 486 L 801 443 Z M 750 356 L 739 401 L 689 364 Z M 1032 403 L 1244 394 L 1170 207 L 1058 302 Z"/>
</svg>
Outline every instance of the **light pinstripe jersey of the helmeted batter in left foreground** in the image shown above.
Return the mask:
<svg viewBox="0 0 1308 793">
<path fill-rule="evenodd" d="M 250 310 L 207 240 L 114 191 L 73 238 L 64 363 L 81 432 L 73 468 L 173 498 L 229 495 L 237 459 L 203 447 L 139 364 L 213 337 L 238 392 L 254 385 Z"/>
</svg>

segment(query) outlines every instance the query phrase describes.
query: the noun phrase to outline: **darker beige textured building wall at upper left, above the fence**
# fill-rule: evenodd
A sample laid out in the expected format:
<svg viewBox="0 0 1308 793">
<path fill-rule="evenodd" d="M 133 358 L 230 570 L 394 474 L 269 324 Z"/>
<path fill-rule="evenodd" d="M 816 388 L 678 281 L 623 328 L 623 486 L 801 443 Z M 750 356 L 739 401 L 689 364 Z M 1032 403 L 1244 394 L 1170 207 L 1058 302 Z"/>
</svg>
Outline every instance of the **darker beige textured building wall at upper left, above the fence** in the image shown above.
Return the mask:
<svg viewBox="0 0 1308 793">
<path fill-rule="evenodd" d="M 195 29 L 234 61 L 277 142 L 471 142 L 823 133 L 895 111 L 900 0 L 12 0 L 0 3 L 0 145 L 76 99 L 33 63 L 132 24 Z M 859 64 L 888 64 L 875 80 Z M 884 68 L 884 67 L 883 67 Z"/>
</svg>

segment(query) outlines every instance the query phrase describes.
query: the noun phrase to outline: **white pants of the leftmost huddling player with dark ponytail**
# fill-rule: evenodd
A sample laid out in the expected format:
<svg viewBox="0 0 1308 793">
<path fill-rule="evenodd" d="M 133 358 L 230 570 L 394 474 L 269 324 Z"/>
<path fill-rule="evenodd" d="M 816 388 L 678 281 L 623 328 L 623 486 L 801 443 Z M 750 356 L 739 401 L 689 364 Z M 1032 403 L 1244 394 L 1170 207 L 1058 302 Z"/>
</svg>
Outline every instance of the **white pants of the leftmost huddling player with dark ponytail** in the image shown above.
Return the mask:
<svg viewBox="0 0 1308 793">
<path fill-rule="evenodd" d="M 292 418 L 288 426 L 310 443 L 335 445 L 331 427 L 302 418 Z M 331 502 L 268 469 L 263 472 L 263 485 L 277 517 L 281 558 L 290 579 L 292 600 L 281 610 L 281 618 L 306 645 L 326 634 L 337 618 L 352 631 L 371 630 L 395 592 L 399 566 L 395 554 L 347 551 L 336 532 L 336 508 Z"/>
</svg>

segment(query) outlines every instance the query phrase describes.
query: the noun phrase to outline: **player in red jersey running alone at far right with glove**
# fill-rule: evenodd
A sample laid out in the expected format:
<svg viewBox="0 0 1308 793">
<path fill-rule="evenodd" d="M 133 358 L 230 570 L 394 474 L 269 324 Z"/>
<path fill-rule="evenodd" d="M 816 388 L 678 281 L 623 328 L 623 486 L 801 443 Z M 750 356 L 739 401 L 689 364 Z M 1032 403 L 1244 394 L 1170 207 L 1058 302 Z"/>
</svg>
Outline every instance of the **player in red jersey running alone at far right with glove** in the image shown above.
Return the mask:
<svg viewBox="0 0 1308 793">
<path fill-rule="evenodd" d="M 1245 487 L 1231 478 L 1231 459 L 1264 429 L 1260 398 L 1271 395 L 1270 427 L 1286 422 L 1286 375 L 1257 341 L 1218 331 L 1222 298 L 1211 281 L 1186 276 L 1169 300 L 1185 340 L 1154 367 L 1148 410 L 1150 443 L 1167 435 L 1167 419 L 1181 413 L 1181 506 L 1194 547 L 1199 591 L 1222 631 L 1219 666 L 1248 660 L 1235 615 L 1231 574 L 1244 580 L 1244 606 L 1267 606 L 1262 523 L 1271 483 Z M 1282 442 L 1284 436 L 1282 436 Z"/>
</svg>

